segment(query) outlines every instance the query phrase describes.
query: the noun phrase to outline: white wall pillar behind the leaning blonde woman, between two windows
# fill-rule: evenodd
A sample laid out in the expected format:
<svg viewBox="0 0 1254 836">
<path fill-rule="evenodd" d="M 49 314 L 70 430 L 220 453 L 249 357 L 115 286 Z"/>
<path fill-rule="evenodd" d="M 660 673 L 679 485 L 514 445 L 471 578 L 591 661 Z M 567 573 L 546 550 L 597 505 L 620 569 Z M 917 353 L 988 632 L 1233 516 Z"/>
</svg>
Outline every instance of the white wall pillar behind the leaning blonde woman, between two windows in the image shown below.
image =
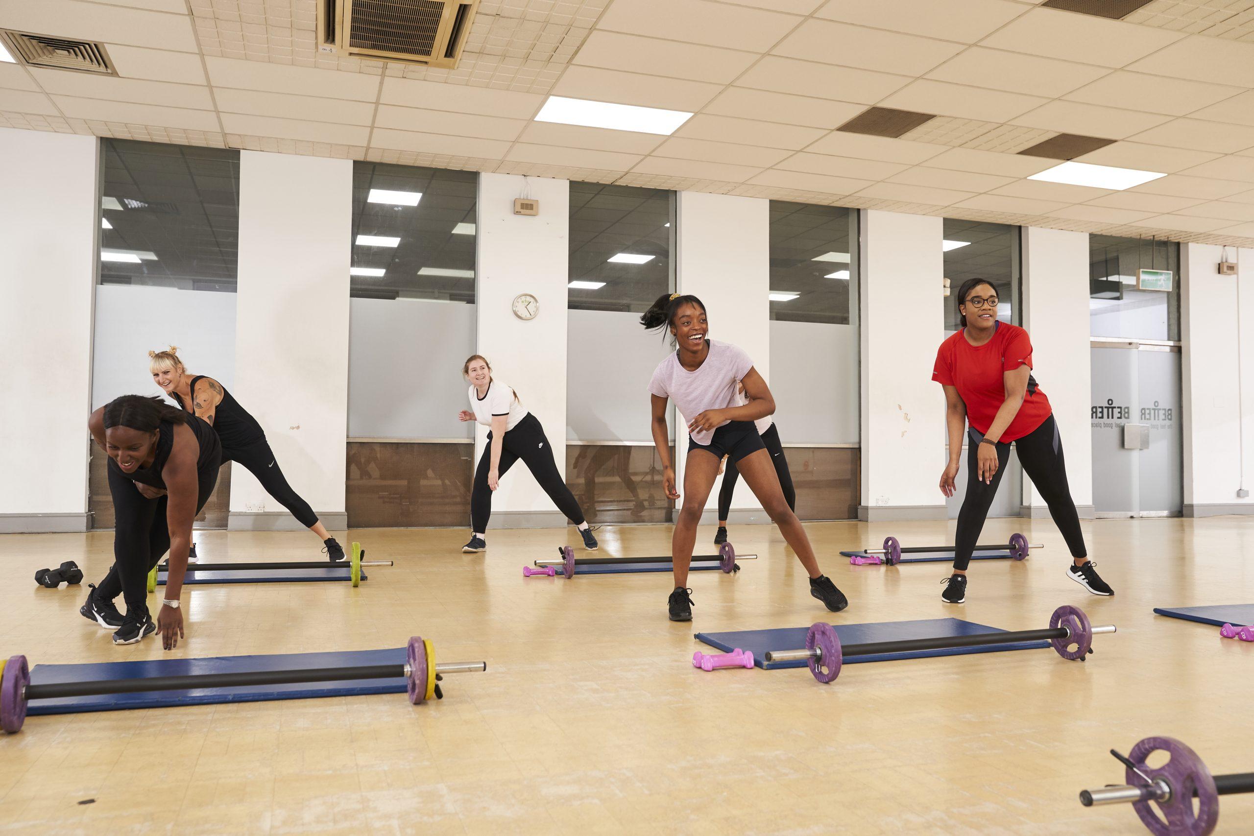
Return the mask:
<svg viewBox="0 0 1254 836">
<path fill-rule="evenodd" d="M 351 216 L 351 160 L 240 153 L 232 394 L 329 528 L 344 519 Z M 243 468 L 232 471 L 231 511 L 233 528 L 300 528 Z"/>
</svg>

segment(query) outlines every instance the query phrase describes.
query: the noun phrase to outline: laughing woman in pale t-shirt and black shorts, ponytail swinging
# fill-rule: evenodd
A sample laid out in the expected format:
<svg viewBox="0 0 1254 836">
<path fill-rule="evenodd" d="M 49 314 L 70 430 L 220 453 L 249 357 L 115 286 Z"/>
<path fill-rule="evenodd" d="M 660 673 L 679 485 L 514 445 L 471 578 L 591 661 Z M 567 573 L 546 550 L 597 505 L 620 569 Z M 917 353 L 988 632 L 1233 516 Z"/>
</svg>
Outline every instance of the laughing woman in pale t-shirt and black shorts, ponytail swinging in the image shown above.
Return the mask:
<svg viewBox="0 0 1254 836">
<path fill-rule="evenodd" d="M 653 442 L 662 460 L 666 495 L 671 499 L 678 499 L 680 494 L 675 489 L 675 470 L 671 466 L 667 400 L 675 401 L 691 434 L 683 470 L 683 508 L 671 536 L 671 558 L 675 562 L 675 590 L 667 602 L 671 620 L 692 620 L 688 564 L 697 539 L 697 524 L 725 455 L 740 470 L 780 534 L 796 551 L 810 575 L 810 594 L 839 613 L 849 605 L 849 600 L 830 578 L 819 572 L 805 528 L 785 501 L 771 456 L 754 426 L 754 421 L 775 411 L 775 400 L 749 355 L 731 343 L 706 338 L 705 305 L 695 296 L 663 293 L 640 321 L 651 331 L 668 328 L 672 343 L 678 346 L 675 353 L 657 365 L 648 384 Z M 745 397 L 749 399 L 744 406 L 739 406 L 737 381 L 744 382 Z"/>
</svg>

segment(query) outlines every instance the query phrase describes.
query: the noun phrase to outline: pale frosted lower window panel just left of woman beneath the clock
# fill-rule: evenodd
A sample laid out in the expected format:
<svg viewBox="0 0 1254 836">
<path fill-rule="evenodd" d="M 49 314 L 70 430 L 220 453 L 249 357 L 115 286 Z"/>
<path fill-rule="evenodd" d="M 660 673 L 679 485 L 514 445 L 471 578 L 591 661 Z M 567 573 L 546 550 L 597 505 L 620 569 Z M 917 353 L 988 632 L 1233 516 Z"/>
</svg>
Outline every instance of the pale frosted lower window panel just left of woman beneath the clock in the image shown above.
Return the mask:
<svg viewBox="0 0 1254 836">
<path fill-rule="evenodd" d="M 349 437 L 469 439 L 461 365 L 475 306 L 424 300 L 350 302 Z"/>
</svg>

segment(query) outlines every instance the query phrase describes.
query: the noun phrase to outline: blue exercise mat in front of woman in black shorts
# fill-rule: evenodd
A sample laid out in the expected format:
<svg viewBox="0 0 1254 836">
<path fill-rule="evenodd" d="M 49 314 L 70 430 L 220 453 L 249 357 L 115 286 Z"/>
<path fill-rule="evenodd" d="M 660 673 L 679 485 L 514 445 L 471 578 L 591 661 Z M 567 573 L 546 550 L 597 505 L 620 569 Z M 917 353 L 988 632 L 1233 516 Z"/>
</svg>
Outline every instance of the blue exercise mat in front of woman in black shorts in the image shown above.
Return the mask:
<svg viewBox="0 0 1254 836">
<path fill-rule="evenodd" d="M 899 642 L 903 639 L 924 639 L 942 635 L 978 635 L 981 633 L 1004 633 L 1006 630 L 961 618 L 924 618 L 917 622 L 874 622 L 872 624 L 833 624 L 840 643 L 864 644 L 867 642 Z M 724 653 L 731 653 L 737 647 L 754 654 L 754 664 L 762 671 L 776 668 L 804 668 L 805 662 L 766 662 L 767 651 L 798 651 L 805 647 L 808 627 L 781 627 L 774 630 L 732 630 L 730 633 L 697 633 L 697 638 Z M 873 653 L 854 656 L 844 664 L 855 662 L 892 662 L 894 659 L 922 659 L 932 656 L 962 656 L 964 653 L 997 653 L 999 651 L 1036 651 L 1050 647 L 1048 642 L 1014 642 L 1013 644 L 993 644 L 988 647 L 958 647 L 942 651 L 908 651 L 905 653 Z"/>
</svg>

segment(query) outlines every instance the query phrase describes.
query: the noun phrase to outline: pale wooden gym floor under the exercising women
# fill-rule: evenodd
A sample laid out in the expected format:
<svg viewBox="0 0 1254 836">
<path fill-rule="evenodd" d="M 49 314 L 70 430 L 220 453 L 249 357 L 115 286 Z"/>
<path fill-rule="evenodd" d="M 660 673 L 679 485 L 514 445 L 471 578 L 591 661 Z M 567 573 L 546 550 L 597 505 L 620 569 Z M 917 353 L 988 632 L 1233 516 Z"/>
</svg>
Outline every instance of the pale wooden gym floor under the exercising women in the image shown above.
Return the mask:
<svg viewBox="0 0 1254 836">
<path fill-rule="evenodd" d="M 840 549 L 895 534 L 943 543 L 952 524 L 809 526 L 853 602 L 810 598 L 767 526 L 734 526 L 739 575 L 693 573 L 695 620 L 666 618 L 667 574 L 523 579 L 573 529 L 352 531 L 396 565 L 346 583 L 189 587 L 188 638 L 114 647 L 78 614 L 85 587 L 43 589 L 35 569 L 76 560 L 88 579 L 112 534 L 0 538 L 0 656 L 39 663 L 399 647 L 488 662 L 448 677 L 445 699 L 403 696 L 33 717 L 0 739 L 0 831 L 21 833 L 1144 833 L 1129 806 L 1076 793 L 1121 781 L 1107 755 L 1169 734 L 1213 772 L 1254 770 L 1254 644 L 1152 614 L 1254 603 L 1254 525 L 1238 518 L 1086 523 L 1115 587 L 1065 575 L 1051 523 L 1023 530 L 1026 563 L 977 562 L 967 603 L 940 600 L 943 564 L 850 567 Z M 702 529 L 709 543 L 712 529 Z M 606 528 L 602 554 L 666 554 L 667 526 Z M 342 539 L 342 538 L 341 538 Z M 311 559 L 306 533 L 198 533 L 204 560 Z M 712 550 L 709 546 L 707 550 Z M 581 551 L 577 551 L 581 554 Z M 803 671 L 693 669 L 695 629 L 803 627 L 957 615 L 1046 627 L 1060 604 L 1119 634 L 1081 664 L 1048 651 Z M 94 800 L 92 803 L 83 803 Z M 1250 832 L 1254 796 L 1221 800 L 1218 832 Z"/>
</svg>

